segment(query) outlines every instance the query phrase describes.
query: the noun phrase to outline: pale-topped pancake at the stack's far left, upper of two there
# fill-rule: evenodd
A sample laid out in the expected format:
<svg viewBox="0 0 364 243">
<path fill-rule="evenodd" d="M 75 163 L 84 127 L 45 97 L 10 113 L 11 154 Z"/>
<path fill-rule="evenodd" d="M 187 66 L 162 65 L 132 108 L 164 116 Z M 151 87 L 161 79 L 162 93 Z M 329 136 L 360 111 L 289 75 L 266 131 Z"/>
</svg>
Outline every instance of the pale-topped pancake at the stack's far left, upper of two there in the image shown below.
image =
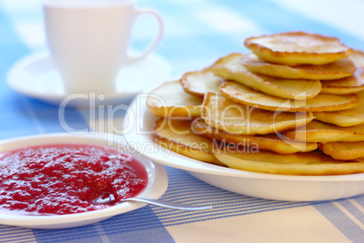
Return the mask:
<svg viewBox="0 0 364 243">
<path fill-rule="evenodd" d="M 185 92 L 179 81 L 163 83 L 148 94 L 147 107 L 152 114 L 161 117 L 198 117 L 202 97 Z"/>
</svg>

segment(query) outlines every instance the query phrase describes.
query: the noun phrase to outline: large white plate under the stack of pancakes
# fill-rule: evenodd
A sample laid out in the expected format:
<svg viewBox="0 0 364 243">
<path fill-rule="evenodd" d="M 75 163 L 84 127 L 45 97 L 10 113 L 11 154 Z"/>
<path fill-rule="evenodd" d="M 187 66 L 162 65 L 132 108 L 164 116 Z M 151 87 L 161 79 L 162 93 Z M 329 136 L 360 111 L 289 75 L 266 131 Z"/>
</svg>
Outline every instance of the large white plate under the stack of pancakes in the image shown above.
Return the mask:
<svg viewBox="0 0 364 243">
<path fill-rule="evenodd" d="M 129 110 L 124 119 L 123 134 L 130 147 L 150 160 L 187 170 L 197 179 L 218 188 L 257 198 L 290 201 L 342 199 L 364 193 L 363 173 L 339 176 L 275 175 L 224 168 L 187 158 L 151 141 L 148 131 L 156 117 L 148 112 L 145 97 L 137 96 Z"/>
</svg>

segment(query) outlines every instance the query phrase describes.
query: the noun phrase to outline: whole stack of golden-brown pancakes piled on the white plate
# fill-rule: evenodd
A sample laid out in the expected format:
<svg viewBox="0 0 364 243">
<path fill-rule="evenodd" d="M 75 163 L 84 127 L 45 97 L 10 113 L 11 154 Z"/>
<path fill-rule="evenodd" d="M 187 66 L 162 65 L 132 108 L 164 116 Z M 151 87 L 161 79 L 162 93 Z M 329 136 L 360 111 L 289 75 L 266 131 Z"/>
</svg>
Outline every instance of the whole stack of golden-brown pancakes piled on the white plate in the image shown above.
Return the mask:
<svg viewBox="0 0 364 243">
<path fill-rule="evenodd" d="M 302 32 L 244 44 L 252 53 L 228 54 L 149 93 L 148 110 L 160 117 L 152 140 L 238 170 L 364 172 L 364 53 Z"/>
</svg>

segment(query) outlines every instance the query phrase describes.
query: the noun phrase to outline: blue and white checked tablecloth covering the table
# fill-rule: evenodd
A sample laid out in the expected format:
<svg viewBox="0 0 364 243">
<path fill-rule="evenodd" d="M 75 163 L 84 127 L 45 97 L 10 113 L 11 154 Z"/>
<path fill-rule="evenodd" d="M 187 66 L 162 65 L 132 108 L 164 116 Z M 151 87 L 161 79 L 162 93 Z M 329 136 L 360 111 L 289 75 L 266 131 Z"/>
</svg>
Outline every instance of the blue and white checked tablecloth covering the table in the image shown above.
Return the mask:
<svg viewBox="0 0 364 243">
<path fill-rule="evenodd" d="M 339 37 L 364 50 L 364 7 L 359 1 L 139 0 L 165 22 L 156 53 L 170 63 L 170 77 L 208 66 L 227 53 L 246 52 L 244 38 L 302 30 Z M 362 3 L 362 2 L 361 2 Z M 360 14 L 361 13 L 361 14 Z M 153 34 L 140 20 L 134 47 Z M 0 139 L 65 132 L 56 105 L 25 97 L 6 84 L 16 61 L 46 49 L 41 1 L 0 0 Z M 31 81 L 30 81 L 31 82 Z M 90 111 L 67 108 L 72 128 L 105 132 L 100 124 L 120 122 L 123 114 L 91 118 Z M 121 131 L 120 131 L 121 132 Z M 256 199 L 221 190 L 165 167 L 168 190 L 162 199 L 193 203 L 204 197 L 214 209 L 187 212 L 145 206 L 99 223 L 63 229 L 1 225 L 9 242 L 364 242 L 364 196 L 319 202 Z"/>
</svg>

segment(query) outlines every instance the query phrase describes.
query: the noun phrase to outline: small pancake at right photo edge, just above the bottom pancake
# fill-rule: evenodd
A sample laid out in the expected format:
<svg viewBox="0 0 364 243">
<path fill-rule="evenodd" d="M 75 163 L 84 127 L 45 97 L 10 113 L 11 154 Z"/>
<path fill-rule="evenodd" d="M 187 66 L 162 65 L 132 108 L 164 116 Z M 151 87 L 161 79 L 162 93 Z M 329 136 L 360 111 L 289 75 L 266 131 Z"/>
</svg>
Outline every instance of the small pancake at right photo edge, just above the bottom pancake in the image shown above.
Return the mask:
<svg viewBox="0 0 364 243">
<path fill-rule="evenodd" d="M 321 144 L 320 149 L 335 160 L 355 160 L 364 157 L 364 141 L 328 142 Z"/>
</svg>

